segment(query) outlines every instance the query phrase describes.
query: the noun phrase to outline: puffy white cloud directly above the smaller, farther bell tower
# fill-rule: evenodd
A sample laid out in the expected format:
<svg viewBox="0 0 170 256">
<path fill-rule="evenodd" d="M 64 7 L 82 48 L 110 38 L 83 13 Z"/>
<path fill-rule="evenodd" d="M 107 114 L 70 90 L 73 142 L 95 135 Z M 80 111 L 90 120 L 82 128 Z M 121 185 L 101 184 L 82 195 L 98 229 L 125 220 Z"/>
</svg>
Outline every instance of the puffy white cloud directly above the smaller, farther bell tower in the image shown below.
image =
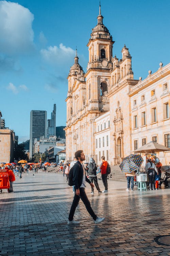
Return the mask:
<svg viewBox="0 0 170 256">
<path fill-rule="evenodd" d="M 40 53 L 46 61 L 56 64 L 63 64 L 66 61 L 70 62 L 70 60 L 73 62 L 75 56 L 75 51 L 62 43 L 59 47 L 54 45 L 49 46 L 47 49 L 41 49 Z"/>
</svg>

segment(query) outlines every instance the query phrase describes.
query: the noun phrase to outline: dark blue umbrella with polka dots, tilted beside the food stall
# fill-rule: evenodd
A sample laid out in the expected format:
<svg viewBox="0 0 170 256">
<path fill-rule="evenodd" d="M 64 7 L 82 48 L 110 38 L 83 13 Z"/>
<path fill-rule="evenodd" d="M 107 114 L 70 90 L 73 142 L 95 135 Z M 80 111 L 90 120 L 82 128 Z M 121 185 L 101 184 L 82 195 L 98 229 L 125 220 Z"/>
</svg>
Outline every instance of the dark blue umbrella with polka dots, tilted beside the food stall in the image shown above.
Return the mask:
<svg viewBox="0 0 170 256">
<path fill-rule="evenodd" d="M 140 155 L 131 154 L 123 158 L 120 164 L 120 169 L 122 172 L 129 172 L 129 173 L 138 171 L 142 162 L 143 162 L 143 158 Z"/>
</svg>

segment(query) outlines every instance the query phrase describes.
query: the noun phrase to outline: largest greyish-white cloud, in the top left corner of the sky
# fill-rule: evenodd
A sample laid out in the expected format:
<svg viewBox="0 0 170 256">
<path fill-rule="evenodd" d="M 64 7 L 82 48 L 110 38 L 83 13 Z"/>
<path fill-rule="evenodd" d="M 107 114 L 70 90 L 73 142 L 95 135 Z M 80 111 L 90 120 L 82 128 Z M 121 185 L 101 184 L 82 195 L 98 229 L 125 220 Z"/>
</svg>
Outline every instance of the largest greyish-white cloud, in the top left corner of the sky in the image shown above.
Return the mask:
<svg viewBox="0 0 170 256">
<path fill-rule="evenodd" d="M 34 15 L 24 6 L 0 1 L 0 48 L 3 53 L 25 52 L 33 47 L 33 20 Z"/>
</svg>

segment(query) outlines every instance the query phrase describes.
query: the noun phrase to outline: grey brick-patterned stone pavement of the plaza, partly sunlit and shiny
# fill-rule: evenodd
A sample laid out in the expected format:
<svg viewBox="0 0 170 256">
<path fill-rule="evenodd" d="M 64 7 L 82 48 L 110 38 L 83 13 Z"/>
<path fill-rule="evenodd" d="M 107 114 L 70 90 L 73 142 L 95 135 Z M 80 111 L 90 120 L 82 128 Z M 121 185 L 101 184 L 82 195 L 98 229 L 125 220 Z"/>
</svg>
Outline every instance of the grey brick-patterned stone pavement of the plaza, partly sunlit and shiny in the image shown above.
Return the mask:
<svg viewBox="0 0 170 256">
<path fill-rule="evenodd" d="M 170 255 L 154 238 L 170 234 L 170 189 L 125 191 L 126 182 L 108 181 L 109 193 L 86 193 L 105 221 L 95 225 L 84 204 L 68 226 L 72 188 L 61 173 L 16 178 L 14 193 L 0 194 L 0 255 Z M 103 189 L 102 181 L 99 181 Z"/>
</svg>

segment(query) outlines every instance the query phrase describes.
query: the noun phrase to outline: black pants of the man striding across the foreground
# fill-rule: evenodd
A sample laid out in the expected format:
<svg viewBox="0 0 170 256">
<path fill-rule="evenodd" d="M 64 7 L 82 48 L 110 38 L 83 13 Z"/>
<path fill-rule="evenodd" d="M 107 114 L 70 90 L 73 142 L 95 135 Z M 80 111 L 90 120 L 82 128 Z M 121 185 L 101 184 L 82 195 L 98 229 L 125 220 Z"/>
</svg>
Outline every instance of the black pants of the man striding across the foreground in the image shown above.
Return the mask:
<svg viewBox="0 0 170 256">
<path fill-rule="evenodd" d="M 76 209 L 76 207 L 79 204 L 80 198 L 82 199 L 82 201 L 83 201 L 83 203 L 84 203 L 88 213 L 96 221 L 97 216 L 96 216 L 96 214 L 94 213 L 94 211 L 91 208 L 90 202 L 89 202 L 89 200 L 87 198 L 85 189 L 83 187 L 80 187 L 80 196 L 77 196 L 76 194 L 74 195 L 74 199 L 73 199 L 73 202 L 72 202 L 72 205 L 71 205 L 71 209 L 70 209 L 70 213 L 69 213 L 69 217 L 68 217 L 69 221 L 73 220 L 75 209 Z"/>
</svg>

